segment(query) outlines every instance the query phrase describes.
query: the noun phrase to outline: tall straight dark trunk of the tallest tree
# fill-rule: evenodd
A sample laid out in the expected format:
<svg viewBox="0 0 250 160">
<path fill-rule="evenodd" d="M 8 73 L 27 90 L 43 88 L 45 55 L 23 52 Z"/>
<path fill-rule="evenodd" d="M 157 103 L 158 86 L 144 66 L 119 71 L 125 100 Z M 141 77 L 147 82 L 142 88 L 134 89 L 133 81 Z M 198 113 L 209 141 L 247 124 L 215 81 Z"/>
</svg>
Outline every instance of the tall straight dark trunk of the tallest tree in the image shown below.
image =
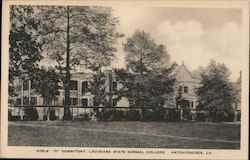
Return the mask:
<svg viewBox="0 0 250 160">
<path fill-rule="evenodd" d="M 67 58 L 66 58 L 66 79 L 65 79 L 65 103 L 64 103 L 64 120 L 70 120 L 70 39 L 69 39 L 69 6 L 67 6 Z"/>
</svg>

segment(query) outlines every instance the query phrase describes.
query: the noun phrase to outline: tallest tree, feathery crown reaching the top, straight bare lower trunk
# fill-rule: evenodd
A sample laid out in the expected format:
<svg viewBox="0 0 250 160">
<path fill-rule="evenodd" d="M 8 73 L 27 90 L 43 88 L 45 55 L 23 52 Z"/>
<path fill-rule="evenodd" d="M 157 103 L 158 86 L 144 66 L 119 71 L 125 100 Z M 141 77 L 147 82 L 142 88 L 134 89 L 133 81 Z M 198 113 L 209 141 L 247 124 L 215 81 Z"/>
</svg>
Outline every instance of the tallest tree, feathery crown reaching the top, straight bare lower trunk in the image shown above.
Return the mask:
<svg viewBox="0 0 250 160">
<path fill-rule="evenodd" d="M 70 71 L 76 66 L 99 70 L 110 64 L 122 35 L 116 32 L 117 18 L 109 7 L 39 7 L 43 21 L 41 34 L 50 58 L 65 71 L 64 119 L 70 119 Z"/>
</svg>

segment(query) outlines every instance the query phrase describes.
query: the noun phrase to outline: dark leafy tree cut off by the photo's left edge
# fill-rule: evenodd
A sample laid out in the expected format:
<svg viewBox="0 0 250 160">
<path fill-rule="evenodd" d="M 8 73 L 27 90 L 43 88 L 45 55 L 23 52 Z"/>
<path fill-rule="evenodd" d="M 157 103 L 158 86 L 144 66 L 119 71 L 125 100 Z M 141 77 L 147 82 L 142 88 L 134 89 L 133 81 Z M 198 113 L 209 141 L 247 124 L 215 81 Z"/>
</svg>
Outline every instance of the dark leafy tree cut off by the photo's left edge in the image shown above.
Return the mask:
<svg viewBox="0 0 250 160">
<path fill-rule="evenodd" d="M 40 23 L 31 6 L 10 6 L 9 94 L 14 95 L 13 80 L 29 76 L 38 67 L 42 43 L 35 31 Z"/>
</svg>

